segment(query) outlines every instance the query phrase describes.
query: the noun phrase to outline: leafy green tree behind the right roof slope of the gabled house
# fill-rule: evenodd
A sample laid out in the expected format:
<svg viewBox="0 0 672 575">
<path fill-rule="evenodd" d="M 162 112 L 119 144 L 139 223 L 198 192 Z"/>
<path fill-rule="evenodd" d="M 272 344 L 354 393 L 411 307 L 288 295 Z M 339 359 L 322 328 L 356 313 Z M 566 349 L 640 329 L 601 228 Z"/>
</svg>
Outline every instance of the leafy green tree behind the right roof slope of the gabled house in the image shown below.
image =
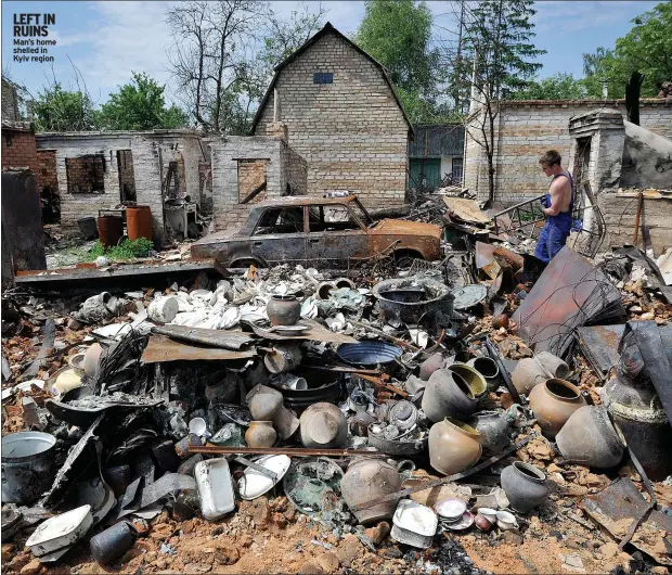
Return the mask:
<svg viewBox="0 0 672 575">
<path fill-rule="evenodd" d="M 414 0 L 367 0 L 354 41 L 383 64 L 413 123 L 435 115 L 438 51 L 430 47 L 431 12 Z"/>
</svg>

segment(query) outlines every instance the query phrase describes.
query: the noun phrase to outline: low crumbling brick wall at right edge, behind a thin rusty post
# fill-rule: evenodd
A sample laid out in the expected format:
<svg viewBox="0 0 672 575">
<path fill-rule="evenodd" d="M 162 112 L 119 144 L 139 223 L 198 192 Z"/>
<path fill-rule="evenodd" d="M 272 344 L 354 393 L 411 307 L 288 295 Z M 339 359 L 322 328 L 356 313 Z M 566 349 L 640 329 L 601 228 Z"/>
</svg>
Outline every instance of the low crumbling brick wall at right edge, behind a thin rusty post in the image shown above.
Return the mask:
<svg viewBox="0 0 672 575">
<path fill-rule="evenodd" d="M 637 214 L 637 192 L 606 193 L 597 196 L 597 205 L 607 223 L 607 237 L 602 251 L 613 245 L 632 244 Z M 657 256 L 672 245 L 672 197 L 644 197 L 639 226 L 647 226 Z M 637 244 L 644 247 L 642 230 Z"/>
</svg>

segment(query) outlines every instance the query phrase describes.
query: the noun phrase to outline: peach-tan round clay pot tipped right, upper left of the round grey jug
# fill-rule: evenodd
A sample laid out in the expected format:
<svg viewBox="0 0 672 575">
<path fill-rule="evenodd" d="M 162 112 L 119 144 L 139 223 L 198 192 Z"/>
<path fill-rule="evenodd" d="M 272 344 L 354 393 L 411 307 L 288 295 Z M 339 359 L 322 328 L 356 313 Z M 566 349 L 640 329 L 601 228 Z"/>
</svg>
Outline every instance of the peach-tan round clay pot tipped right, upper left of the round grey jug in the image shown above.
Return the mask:
<svg viewBox="0 0 672 575">
<path fill-rule="evenodd" d="M 467 470 L 482 453 L 480 440 L 470 425 L 445 418 L 429 430 L 429 463 L 444 475 Z"/>
</svg>

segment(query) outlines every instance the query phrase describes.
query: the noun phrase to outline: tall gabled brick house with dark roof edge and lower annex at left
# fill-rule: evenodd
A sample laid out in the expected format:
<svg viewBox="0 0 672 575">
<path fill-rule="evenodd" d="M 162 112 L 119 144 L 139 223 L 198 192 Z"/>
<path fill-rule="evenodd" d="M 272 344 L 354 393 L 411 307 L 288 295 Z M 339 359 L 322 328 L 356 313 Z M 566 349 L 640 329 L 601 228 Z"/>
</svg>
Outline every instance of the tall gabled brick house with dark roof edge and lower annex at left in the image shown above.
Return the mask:
<svg viewBox="0 0 672 575">
<path fill-rule="evenodd" d="M 264 171 L 268 195 L 288 183 L 295 194 L 350 190 L 366 206 L 404 201 L 409 118 L 380 63 L 328 23 L 276 66 L 253 133 L 211 142 L 217 228 L 244 217 L 240 200 Z"/>
</svg>

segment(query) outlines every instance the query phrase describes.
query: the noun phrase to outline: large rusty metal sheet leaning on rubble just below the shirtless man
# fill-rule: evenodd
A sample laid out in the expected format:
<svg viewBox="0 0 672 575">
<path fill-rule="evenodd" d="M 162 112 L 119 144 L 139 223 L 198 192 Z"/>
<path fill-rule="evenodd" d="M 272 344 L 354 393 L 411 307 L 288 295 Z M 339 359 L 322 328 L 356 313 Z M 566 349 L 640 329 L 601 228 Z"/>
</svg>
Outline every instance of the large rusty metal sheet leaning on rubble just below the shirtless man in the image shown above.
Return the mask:
<svg viewBox="0 0 672 575">
<path fill-rule="evenodd" d="M 583 256 L 565 246 L 513 316 L 518 334 L 537 353 L 564 357 L 574 330 L 605 317 L 624 316 L 621 294 Z"/>
</svg>

